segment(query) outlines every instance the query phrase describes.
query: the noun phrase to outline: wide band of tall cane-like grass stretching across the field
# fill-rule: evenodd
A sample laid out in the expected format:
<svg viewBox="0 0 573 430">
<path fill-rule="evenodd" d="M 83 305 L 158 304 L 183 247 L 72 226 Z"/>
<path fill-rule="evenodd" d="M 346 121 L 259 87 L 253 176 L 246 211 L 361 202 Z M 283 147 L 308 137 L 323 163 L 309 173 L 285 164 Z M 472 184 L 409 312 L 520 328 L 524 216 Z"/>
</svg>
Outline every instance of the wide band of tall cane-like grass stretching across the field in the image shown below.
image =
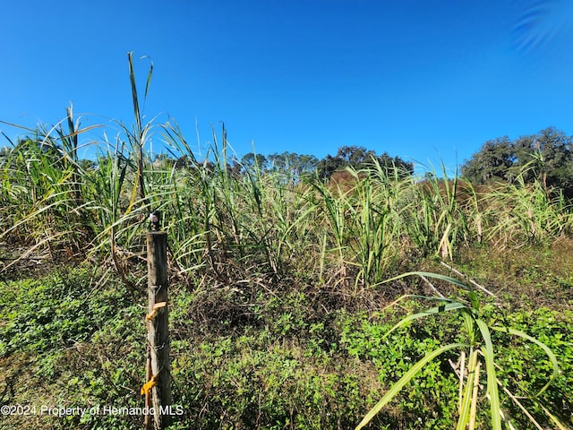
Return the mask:
<svg viewBox="0 0 573 430">
<path fill-rule="evenodd" d="M 210 149 L 198 159 L 174 121 L 144 121 L 131 54 L 128 63 L 134 124 L 117 122 L 111 140 L 102 127 L 93 165 L 79 159 L 79 139 L 97 126 L 82 128 L 72 107 L 62 123 L 39 127 L 3 157 L 0 241 L 30 252 L 104 255 L 135 285 L 139 278 L 127 268 L 141 258 L 148 214 L 159 210 L 182 274 L 201 268 L 228 283 L 249 273 L 297 273 L 355 294 L 416 258 L 453 259 L 462 246 L 571 234 L 570 202 L 523 176 L 476 189 L 443 166 L 440 177 L 418 180 L 374 160 L 329 183 L 256 163 L 232 170 L 238 157 L 225 125 L 211 130 Z M 154 162 L 151 135 L 185 163 Z"/>
</svg>

